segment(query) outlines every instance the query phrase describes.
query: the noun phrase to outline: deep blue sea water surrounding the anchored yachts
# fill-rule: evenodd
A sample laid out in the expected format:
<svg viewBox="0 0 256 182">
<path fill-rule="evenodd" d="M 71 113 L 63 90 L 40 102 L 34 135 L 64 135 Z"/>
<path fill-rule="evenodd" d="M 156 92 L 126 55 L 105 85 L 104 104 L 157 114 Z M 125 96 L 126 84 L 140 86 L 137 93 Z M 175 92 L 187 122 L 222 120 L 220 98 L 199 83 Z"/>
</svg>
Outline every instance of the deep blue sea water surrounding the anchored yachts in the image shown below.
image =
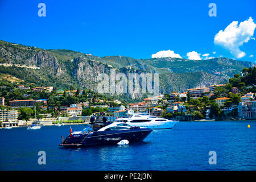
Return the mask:
<svg viewBox="0 0 256 182">
<path fill-rule="evenodd" d="M 172 130 L 152 131 L 141 143 L 78 150 L 58 146 L 69 127 L 0 130 L 0 170 L 256 169 L 256 121 L 180 122 Z M 39 151 L 46 152 L 46 165 L 38 164 Z M 209 164 L 209 151 L 216 151 L 216 165 Z"/>
</svg>

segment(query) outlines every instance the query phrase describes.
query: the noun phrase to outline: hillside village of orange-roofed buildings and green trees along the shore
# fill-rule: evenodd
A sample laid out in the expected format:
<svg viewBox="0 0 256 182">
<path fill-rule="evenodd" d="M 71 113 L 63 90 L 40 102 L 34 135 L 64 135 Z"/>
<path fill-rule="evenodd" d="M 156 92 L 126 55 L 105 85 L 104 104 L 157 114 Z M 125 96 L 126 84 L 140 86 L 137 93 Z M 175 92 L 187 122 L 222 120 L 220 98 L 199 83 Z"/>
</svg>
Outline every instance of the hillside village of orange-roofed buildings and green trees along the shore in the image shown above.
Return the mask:
<svg viewBox="0 0 256 182">
<path fill-rule="evenodd" d="M 141 102 L 126 103 L 114 96 L 99 94 L 90 89 L 68 90 L 53 86 L 20 85 L 3 80 L 0 84 L 1 127 L 32 119 L 89 117 L 104 113 L 109 121 L 125 117 L 129 110 L 150 112 L 156 117 L 179 121 L 202 119 L 255 119 L 256 68 L 244 68 L 226 84 L 190 88 L 185 92 L 159 93 Z M 68 119 L 69 120 L 69 119 Z M 73 119 L 74 120 L 74 119 Z M 22 122 L 23 121 L 23 122 Z M 53 119 L 52 123 L 57 123 Z M 84 122 L 74 120 L 73 122 Z M 6 125 L 4 125 L 6 123 Z"/>
</svg>

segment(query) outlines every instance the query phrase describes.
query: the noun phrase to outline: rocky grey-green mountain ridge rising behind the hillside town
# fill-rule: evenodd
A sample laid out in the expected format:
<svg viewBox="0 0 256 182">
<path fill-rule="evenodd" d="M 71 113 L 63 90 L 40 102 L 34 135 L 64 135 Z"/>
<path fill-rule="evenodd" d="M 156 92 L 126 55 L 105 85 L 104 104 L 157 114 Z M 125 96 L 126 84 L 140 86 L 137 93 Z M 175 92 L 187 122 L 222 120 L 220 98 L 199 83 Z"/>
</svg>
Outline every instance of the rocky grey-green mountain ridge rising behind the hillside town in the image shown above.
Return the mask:
<svg viewBox="0 0 256 182">
<path fill-rule="evenodd" d="M 188 88 L 221 84 L 242 68 L 254 63 L 224 57 L 209 60 L 177 58 L 133 59 L 124 56 L 98 57 L 66 49 L 41 49 L 0 40 L 0 73 L 36 85 L 69 88 L 70 85 L 97 91 L 97 75 L 159 73 L 159 90 L 183 92 Z M 142 95 L 139 94 L 139 97 Z"/>
</svg>

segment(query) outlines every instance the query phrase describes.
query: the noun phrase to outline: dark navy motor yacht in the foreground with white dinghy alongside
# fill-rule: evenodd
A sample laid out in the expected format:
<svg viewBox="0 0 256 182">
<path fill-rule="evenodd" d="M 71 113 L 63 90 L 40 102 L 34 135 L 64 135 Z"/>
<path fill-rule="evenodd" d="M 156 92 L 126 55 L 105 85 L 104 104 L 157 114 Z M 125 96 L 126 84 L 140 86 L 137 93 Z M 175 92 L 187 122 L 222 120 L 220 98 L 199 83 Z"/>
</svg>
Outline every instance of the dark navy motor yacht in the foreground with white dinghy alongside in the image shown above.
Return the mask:
<svg viewBox="0 0 256 182">
<path fill-rule="evenodd" d="M 59 145 L 62 147 L 98 146 L 117 144 L 122 140 L 129 143 L 141 142 L 147 137 L 152 129 L 131 126 L 129 123 L 113 122 L 94 131 L 96 123 L 82 131 L 71 132 L 67 138 Z M 63 138 L 61 136 L 61 138 Z"/>
</svg>

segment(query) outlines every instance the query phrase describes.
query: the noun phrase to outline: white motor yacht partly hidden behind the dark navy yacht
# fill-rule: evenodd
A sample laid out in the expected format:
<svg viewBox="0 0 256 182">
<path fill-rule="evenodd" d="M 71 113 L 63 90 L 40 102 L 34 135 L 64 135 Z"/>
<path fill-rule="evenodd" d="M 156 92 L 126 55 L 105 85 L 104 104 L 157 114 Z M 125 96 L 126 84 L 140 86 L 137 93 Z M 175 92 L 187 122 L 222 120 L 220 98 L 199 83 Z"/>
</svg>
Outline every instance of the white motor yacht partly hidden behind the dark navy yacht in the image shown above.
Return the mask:
<svg viewBox="0 0 256 182">
<path fill-rule="evenodd" d="M 158 118 L 154 115 L 133 113 L 130 117 L 118 118 L 117 122 L 125 122 L 131 126 L 146 127 L 148 129 L 172 129 L 178 121 Z"/>
</svg>

